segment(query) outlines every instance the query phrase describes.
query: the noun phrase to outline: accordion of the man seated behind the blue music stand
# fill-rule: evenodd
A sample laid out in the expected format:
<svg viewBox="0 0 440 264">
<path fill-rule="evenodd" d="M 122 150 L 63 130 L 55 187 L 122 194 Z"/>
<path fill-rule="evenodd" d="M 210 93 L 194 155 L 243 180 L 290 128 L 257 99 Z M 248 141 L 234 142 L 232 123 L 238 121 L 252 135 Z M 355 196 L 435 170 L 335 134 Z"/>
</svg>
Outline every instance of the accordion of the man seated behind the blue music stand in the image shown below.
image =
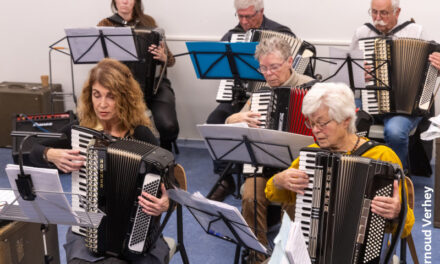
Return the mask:
<svg viewBox="0 0 440 264">
<path fill-rule="evenodd" d="M 233 34 L 231 42 L 260 42 L 263 39 L 271 37 L 279 37 L 285 39 L 290 47 L 290 53 L 293 57 L 292 67 L 297 73 L 304 74 L 308 69 L 311 58 L 316 54 L 315 47 L 301 39 L 295 38 L 292 35 L 286 33 L 280 33 L 271 30 L 263 29 L 250 29 L 243 34 Z M 255 92 L 266 85 L 265 82 L 252 81 L 246 84 L 246 91 Z M 234 80 L 222 80 L 220 81 L 219 89 L 217 92 L 217 102 L 230 102 L 233 99 Z"/>
</svg>

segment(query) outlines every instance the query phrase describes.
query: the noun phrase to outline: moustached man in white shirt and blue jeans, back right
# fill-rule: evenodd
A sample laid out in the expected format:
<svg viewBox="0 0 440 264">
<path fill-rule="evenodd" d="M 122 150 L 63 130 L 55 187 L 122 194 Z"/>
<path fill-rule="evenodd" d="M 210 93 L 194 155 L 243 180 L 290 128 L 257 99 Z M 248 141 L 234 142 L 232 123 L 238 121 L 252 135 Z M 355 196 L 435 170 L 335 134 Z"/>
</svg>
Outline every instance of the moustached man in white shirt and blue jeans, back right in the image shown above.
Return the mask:
<svg viewBox="0 0 440 264">
<path fill-rule="evenodd" d="M 359 27 L 351 43 L 351 49 L 359 49 L 359 39 L 375 36 L 417 38 L 428 40 L 421 25 L 413 21 L 399 22 L 399 0 L 372 0 L 369 14 L 373 24 Z M 371 78 L 371 77 L 370 77 Z M 409 133 L 419 124 L 421 117 L 386 115 L 383 118 L 385 142 L 391 147 L 407 169 Z"/>
</svg>

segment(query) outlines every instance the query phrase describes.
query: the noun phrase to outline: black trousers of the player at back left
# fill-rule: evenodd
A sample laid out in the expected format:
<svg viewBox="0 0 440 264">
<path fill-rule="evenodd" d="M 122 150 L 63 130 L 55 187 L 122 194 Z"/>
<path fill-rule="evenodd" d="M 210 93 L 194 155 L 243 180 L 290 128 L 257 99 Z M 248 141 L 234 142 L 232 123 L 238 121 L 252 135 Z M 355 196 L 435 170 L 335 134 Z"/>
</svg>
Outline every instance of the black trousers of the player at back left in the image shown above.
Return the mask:
<svg viewBox="0 0 440 264">
<path fill-rule="evenodd" d="M 157 93 L 146 98 L 148 108 L 153 114 L 154 123 L 160 135 L 160 145 L 168 150 L 171 142 L 179 135 L 179 122 L 176 113 L 176 97 L 171 82 L 163 78 Z"/>
</svg>

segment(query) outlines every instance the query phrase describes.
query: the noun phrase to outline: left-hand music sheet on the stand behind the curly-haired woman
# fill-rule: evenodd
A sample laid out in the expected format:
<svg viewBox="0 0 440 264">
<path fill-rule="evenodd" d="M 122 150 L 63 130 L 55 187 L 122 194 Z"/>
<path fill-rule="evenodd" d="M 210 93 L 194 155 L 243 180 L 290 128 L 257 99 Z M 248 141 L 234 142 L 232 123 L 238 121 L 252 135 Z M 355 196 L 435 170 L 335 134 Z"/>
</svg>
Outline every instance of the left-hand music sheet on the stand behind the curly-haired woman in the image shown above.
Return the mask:
<svg viewBox="0 0 440 264">
<path fill-rule="evenodd" d="M 64 31 L 75 63 L 95 63 L 104 58 L 98 28 L 66 28 Z"/>
</svg>

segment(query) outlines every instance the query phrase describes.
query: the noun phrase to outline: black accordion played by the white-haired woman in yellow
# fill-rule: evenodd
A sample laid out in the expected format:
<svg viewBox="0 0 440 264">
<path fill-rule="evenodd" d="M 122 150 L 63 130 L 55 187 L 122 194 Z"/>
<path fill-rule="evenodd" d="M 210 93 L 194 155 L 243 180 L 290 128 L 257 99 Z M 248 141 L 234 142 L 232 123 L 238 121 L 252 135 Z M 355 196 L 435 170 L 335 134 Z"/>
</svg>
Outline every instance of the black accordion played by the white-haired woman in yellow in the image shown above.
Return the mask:
<svg viewBox="0 0 440 264">
<path fill-rule="evenodd" d="M 296 196 L 294 221 L 312 263 L 382 263 L 386 220 L 370 205 L 377 195 L 392 196 L 397 165 L 303 148 L 299 169 L 309 186 Z"/>
</svg>

